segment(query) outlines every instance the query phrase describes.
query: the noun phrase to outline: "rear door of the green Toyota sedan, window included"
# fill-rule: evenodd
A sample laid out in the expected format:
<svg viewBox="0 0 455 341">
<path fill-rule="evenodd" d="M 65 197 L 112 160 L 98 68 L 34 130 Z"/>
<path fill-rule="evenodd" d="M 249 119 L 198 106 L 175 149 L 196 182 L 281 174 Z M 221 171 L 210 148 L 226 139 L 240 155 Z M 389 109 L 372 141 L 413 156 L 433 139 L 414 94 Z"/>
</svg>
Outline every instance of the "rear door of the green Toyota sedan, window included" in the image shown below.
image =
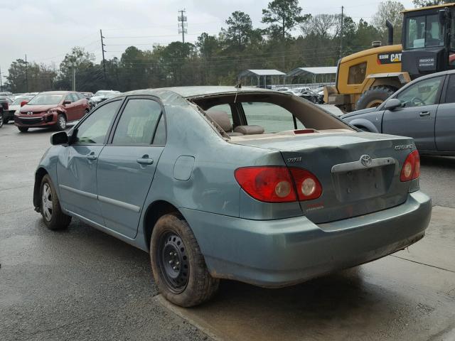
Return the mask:
<svg viewBox="0 0 455 341">
<path fill-rule="evenodd" d="M 136 236 L 165 141 L 161 104 L 152 97 L 129 97 L 98 159 L 98 199 L 109 229 Z"/>
</svg>

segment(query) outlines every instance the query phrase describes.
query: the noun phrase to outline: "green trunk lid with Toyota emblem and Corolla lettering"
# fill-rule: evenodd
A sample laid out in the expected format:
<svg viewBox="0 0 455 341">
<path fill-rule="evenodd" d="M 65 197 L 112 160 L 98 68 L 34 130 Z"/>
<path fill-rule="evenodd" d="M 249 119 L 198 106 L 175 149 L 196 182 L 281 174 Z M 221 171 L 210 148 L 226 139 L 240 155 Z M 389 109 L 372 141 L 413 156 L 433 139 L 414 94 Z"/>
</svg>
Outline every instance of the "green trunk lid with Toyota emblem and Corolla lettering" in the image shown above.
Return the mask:
<svg viewBox="0 0 455 341">
<path fill-rule="evenodd" d="M 371 133 L 315 133 L 238 140 L 232 142 L 279 150 L 287 166 L 316 175 L 323 188 L 321 197 L 300 202 L 304 214 L 315 223 L 385 210 L 407 198 L 410 183 L 400 181 L 400 171 L 414 149 L 412 139 Z"/>
</svg>

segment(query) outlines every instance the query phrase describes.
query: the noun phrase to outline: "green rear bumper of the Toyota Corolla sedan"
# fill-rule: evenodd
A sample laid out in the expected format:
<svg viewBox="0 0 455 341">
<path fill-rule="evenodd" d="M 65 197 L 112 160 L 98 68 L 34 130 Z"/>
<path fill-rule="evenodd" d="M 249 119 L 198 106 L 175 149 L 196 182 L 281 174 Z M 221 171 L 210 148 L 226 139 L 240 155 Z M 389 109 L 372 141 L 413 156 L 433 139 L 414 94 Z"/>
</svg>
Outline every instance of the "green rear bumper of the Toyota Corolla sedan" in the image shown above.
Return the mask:
<svg viewBox="0 0 455 341">
<path fill-rule="evenodd" d="M 245 220 L 182 209 L 212 276 L 280 287 L 379 259 L 424 237 L 431 199 L 326 224 L 306 217 Z"/>
</svg>

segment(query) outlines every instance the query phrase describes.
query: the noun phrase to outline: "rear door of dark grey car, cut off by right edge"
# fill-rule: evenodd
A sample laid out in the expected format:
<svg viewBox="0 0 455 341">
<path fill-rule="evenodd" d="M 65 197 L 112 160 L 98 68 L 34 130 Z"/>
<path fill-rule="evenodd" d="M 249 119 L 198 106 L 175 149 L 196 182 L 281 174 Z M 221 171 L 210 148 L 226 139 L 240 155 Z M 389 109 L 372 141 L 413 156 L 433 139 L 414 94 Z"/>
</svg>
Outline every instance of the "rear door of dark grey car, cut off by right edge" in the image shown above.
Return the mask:
<svg viewBox="0 0 455 341">
<path fill-rule="evenodd" d="M 446 81 L 444 99 L 436 114 L 434 136 L 438 151 L 455 151 L 455 75 Z"/>
</svg>

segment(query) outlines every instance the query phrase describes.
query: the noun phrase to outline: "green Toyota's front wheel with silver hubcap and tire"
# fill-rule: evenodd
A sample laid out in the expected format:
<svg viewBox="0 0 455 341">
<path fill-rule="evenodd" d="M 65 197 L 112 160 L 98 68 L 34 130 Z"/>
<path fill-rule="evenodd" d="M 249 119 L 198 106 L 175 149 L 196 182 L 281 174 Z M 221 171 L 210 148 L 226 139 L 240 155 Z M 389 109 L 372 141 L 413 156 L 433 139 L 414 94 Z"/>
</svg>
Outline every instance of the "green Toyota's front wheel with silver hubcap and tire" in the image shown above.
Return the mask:
<svg viewBox="0 0 455 341">
<path fill-rule="evenodd" d="M 71 222 L 71 217 L 63 213 L 49 175 L 44 175 L 41 180 L 40 200 L 41 215 L 48 229 L 66 229 Z"/>
</svg>

